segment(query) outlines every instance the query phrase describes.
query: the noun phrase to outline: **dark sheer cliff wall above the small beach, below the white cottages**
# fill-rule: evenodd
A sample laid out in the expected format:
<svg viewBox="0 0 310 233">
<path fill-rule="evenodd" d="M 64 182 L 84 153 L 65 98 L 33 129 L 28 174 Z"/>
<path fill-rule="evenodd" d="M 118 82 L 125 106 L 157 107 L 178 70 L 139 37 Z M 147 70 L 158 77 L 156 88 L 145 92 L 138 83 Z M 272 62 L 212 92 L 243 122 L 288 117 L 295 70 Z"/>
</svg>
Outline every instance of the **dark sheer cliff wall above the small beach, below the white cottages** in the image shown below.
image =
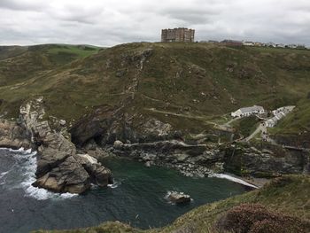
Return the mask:
<svg viewBox="0 0 310 233">
<path fill-rule="evenodd" d="M 283 174 L 309 174 L 308 151 L 291 151 L 276 145 L 226 148 L 225 170 L 237 175 L 275 177 Z"/>
</svg>

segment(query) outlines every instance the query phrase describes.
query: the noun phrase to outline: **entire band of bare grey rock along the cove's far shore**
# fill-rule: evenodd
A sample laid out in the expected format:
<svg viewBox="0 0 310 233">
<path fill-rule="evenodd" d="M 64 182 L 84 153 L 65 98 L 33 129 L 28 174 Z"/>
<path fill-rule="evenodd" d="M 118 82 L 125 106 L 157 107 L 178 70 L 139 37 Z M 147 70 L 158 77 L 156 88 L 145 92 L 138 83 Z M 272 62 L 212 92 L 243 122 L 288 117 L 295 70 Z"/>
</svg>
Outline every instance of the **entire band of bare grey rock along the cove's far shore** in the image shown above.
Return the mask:
<svg viewBox="0 0 310 233">
<path fill-rule="evenodd" d="M 90 183 L 102 187 L 112 183 L 111 171 L 98 162 L 109 154 L 136 159 L 147 167 L 171 167 L 188 176 L 230 173 L 248 179 L 310 173 L 309 151 L 186 141 L 182 132 L 156 119 L 135 128 L 120 109 L 103 107 L 79 120 L 70 132 L 67 127 L 66 120 L 45 115 L 43 97 L 38 97 L 20 107 L 18 120 L 0 121 L 0 147 L 38 151 L 34 185 L 56 192 L 81 193 Z"/>
</svg>

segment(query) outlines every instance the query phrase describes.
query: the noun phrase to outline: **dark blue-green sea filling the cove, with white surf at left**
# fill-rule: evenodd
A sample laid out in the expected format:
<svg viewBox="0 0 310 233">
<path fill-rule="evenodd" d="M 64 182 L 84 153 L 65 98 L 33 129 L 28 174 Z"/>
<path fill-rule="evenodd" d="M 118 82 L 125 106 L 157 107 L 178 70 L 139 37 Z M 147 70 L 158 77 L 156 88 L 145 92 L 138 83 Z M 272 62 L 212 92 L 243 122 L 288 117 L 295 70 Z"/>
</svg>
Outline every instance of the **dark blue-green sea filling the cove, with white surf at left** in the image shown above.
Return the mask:
<svg viewBox="0 0 310 233">
<path fill-rule="evenodd" d="M 104 163 L 112 170 L 112 186 L 94 186 L 83 195 L 60 195 L 31 186 L 35 152 L 0 149 L 0 232 L 74 229 L 103 221 L 123 221 L 142 229 L 162 227 L 194 207 L 248 190 L 227 179 L 185 177 L 128 159 Z M 192 201 L 173 205 L 166 198 L 170 190 L 189 194 Z"/>
</svg>

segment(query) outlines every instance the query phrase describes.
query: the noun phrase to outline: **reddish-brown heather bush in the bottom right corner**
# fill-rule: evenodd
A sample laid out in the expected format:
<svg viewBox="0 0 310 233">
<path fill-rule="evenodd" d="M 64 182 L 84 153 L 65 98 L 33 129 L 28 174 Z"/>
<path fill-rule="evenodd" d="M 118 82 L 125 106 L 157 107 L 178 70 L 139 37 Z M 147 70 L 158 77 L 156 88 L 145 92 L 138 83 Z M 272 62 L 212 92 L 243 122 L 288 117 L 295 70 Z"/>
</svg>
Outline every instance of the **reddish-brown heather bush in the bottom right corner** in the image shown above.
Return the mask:
<svg viewBox="0 0 310 233">
<path fill-rule="evenodd" d="M 236 233 L 306 233 L 310 222 L 270 212 L 265 206 L 243 204 L 224 214 L 216 222 L 216 228 Z"/>
</svg>

